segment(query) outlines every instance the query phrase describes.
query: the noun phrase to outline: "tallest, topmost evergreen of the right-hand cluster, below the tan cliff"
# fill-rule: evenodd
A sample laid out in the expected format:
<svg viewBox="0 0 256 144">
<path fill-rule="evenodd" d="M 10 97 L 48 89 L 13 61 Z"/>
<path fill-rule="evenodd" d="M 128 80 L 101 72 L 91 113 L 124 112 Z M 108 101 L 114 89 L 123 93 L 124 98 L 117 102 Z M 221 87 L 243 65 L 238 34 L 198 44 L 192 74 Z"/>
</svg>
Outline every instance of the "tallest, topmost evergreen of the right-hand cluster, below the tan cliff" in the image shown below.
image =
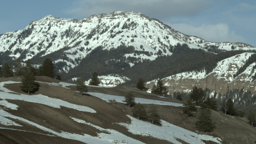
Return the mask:
<svg viewBox="0 0 256 144">
<path fill-rule="evenodd" d="M 190 92 L 190 98 L 192 102 L 196 105 L 202 104 L 204 101 L 204 90 L 202 88 L 197 88 L 194 86 Z"/>
</svg>

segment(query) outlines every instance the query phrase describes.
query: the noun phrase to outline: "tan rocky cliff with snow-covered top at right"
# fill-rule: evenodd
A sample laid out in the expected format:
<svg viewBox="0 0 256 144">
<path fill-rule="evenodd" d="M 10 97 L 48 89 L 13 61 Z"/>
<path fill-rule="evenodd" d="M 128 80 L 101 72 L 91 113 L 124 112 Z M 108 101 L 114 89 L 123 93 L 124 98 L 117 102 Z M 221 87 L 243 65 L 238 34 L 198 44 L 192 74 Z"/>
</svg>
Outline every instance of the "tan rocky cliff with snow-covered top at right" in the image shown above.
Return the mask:
<svg viewBox="0 0 256 144">
<path fill-rule="evenodd" d="M 256 94 L 256 83 L 253 80 L 255 75 L 254 66 L 250 64 L 241 74 L 234 77 L 245 61 L 254 53 L 242 53 L 218 62 L 218 66 L 210 74 L 205 72 L 183 72 L 167 78 L 163 78 L 165 86 L 172 94 L 174 91 L 190 92 L 193 86 L 208 88 L 212 92 L 226 94 L 229 90 L 244 89 Z M 152 88 L 156 80 L 148 82 L 146 86 Z"/>
</svg>

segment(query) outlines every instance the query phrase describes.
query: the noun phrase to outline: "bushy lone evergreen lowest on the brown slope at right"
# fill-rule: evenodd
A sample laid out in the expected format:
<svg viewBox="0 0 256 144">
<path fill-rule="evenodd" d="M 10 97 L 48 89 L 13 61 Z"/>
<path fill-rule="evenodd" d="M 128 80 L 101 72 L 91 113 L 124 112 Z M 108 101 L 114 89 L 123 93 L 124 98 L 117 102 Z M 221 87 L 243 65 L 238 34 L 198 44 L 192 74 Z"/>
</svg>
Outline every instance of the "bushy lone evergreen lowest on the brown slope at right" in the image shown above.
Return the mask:
<svg viewBox="0 0 256 144">
<path fill-rule="evenodd" d="M 211 132 L 216 126 L 215 123 L 212 122 L 211 111 L 208 108 L 204 108 L 201 110 L 196 121 L 196 129 L 202 132 Z"/>
</svg>

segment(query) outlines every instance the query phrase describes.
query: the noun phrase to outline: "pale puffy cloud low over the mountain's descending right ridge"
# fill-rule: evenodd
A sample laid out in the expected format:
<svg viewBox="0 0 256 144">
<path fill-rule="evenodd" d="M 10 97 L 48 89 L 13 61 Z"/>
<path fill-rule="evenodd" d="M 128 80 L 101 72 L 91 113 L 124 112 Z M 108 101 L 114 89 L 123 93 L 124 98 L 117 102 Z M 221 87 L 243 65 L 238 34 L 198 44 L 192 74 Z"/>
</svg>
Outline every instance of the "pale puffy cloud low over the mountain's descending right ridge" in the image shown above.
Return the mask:
<svg viewBox="0 0 256 144">
<path fill-rule="evenodd" d="M 211 42 L 244 42 L 242 36 L 229 30 L 229 26 L 224 23 L 202 24 L 193 26 L 190 24 L 170 24 L 172 28 L 184 34 L 198 36 Z"/>
</svg>

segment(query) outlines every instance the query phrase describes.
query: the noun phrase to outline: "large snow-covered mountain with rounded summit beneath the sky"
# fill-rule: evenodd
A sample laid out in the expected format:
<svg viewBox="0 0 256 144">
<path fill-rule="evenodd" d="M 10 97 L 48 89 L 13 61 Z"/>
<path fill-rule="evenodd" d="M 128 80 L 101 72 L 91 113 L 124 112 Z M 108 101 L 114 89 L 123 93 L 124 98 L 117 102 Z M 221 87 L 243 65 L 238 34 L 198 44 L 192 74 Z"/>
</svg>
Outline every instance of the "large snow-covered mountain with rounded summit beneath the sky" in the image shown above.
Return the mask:
<svg viewBox="0 0 256 144">
<path fill-rule="evenodd" d="M 149 52 L 147 59 L 154 60 L 158 52 L 171 55 L 170 48 L 177 43 L 186 43 L 190 48 L 212 45 L 225 50 L 231 50 L 232 46 L 234 49 L 253 48 L 244 43 L 207 42 L 196 36 L 182 34 L 138 12 L 113 12 L 92 15 L 82 20 L 45 16 L 31 22 L 23 30 L 2 34 L 0 52 L 12 59 L 20 57 L 21 60 L 28 60 L 65 48 L 60 53 L 62 56 L 54 61 L 64 60 L 70 68 L 74 68 L 97 46 L 110 49 L 121 44 L 130 45 L 135 50 Z"/>
</svg>

